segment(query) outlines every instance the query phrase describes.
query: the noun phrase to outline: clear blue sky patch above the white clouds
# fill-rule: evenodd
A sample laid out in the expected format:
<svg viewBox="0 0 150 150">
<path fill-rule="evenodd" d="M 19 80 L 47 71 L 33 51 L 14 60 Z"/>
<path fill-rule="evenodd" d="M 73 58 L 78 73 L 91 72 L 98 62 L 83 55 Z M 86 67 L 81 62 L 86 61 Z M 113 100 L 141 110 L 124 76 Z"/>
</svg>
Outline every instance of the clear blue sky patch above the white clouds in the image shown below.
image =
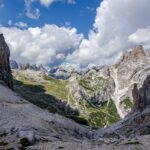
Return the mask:
<svg viewBox="0 0 150 150">
<path fill-rule="evenodd" d="M 0 24 L 3 26 L 8 26 L 8 20 L 12 20 L 13 23 L 22 21 L 27 23 L 29 27 L 43 26 L 44 24 L 56 24 L 58 26 L 70 24 L 87 37 L 88 31 L 92 29 L 100 0 L 76 0 L 75 4 L 55 2 L 49 7 L 35 2 L 31 7 L 40 10 L 39 19 L 25 16 L 24 0 L 3 0 L 3 4 L 5 7 L 0 9 Z"/>
</svg>

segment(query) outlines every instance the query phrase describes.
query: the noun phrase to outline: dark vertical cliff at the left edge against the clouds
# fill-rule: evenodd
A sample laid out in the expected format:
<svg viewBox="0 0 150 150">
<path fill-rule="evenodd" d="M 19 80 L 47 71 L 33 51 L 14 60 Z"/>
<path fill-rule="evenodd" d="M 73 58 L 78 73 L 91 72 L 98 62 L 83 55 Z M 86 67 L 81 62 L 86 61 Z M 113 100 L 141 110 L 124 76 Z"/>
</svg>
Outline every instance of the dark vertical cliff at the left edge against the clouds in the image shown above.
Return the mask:
<svg viewBox="0 0 150 150">
<path fill-rule="evenodd" d="M 13 89 L 9 57 L 9 47 L 5 42 L 3 34 L 0 34 L 0 80 L 4 81 L 9 88 Z"/>
</svg>

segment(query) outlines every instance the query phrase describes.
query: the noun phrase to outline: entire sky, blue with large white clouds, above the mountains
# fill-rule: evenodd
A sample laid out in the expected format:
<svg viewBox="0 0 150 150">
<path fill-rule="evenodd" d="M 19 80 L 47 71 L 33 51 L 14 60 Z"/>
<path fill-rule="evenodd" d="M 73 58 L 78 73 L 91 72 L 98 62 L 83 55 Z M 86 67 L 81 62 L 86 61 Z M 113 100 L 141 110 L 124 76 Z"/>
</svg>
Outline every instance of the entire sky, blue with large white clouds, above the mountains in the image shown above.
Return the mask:
<svg viewBox="0 0 150 150">
<path fill-rule="evenodd" d="M 18 62 L 105 65 L 150 49 L 149 14 L 149 0 L 0 0 L 0 32 Z"/>
</svg>

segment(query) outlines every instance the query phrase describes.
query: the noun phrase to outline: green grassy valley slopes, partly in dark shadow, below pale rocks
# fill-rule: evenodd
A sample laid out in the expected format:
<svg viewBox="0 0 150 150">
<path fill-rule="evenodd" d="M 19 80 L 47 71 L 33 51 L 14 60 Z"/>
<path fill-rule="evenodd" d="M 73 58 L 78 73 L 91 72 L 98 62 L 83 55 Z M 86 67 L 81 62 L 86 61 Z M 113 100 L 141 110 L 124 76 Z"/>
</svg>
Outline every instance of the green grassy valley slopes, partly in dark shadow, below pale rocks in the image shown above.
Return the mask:
<svg viewBox="0 0 150 150">
<path fill-rule="evenodd" d="M 41 108 L 48 109 L 50 112 L 58 112 L 62 115 L 68 116 L 68 113 L 65 110 L 61 110 L 56 106 L 52 105 L 52 101 L 57 101 L 57 99 L 61 99 L 61 101 L 67 101 L 70 104 L 70 108 L 74 109 L 77 100 L 68 93 L 67 85 L 68 81 L 56 80 L 51 77 L 44 76 L 44 80 L 46 82 L 35 82 L 34 80 L 25 78 L 20 74 L 15 76 L 15 90 L 20 93 L 24 98 L 29 100 L 30 102 L 38 105 Z M 83 84 L 84 81 L 79 81 Z M 84 86 L 90 85 L 90 83 Z M 97 90 L 99 88 L 105 88 L 102 84 L 108 84 L 108 81 L 99 81 L 96 82 L 96 86 L 93 86 L 92 89 L 88 88 L 89 93 L 93 93 L 92 91 Z M 95 89 L 96 88 L 96 89 Z M 91 104 L 87 103 L 87 101 L 80 101 L 78 103 L 78 113 L 74 115 L 69 115 L 68 117 L 74 119 L 77 122 L 88 124 L 92 127 L 99 127 L 110 125 L 117 122 L 120 117 L 117 114 L 116 107 L 112 100 L 108 103 L 105 103 L 101 107 L 94 107 Z M 71 113 L 69 113 L 71 114 Z"/>
</svg>

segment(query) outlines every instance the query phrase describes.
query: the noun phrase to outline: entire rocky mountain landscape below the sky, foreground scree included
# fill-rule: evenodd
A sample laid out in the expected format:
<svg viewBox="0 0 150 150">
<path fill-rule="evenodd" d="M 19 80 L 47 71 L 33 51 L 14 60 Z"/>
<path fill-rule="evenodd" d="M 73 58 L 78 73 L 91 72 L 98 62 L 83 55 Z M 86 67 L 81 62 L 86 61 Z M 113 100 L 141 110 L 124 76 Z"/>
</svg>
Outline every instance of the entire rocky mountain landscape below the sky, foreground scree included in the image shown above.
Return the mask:
<svg viewBox="0 0 150 150">
<path fill-rule="evenodd" d="M 9 54 L 0 35 L 1 149 L 150 148 L 150 61 L 141 45 L 84 71 L 9 64 Z"/>
</svg>

